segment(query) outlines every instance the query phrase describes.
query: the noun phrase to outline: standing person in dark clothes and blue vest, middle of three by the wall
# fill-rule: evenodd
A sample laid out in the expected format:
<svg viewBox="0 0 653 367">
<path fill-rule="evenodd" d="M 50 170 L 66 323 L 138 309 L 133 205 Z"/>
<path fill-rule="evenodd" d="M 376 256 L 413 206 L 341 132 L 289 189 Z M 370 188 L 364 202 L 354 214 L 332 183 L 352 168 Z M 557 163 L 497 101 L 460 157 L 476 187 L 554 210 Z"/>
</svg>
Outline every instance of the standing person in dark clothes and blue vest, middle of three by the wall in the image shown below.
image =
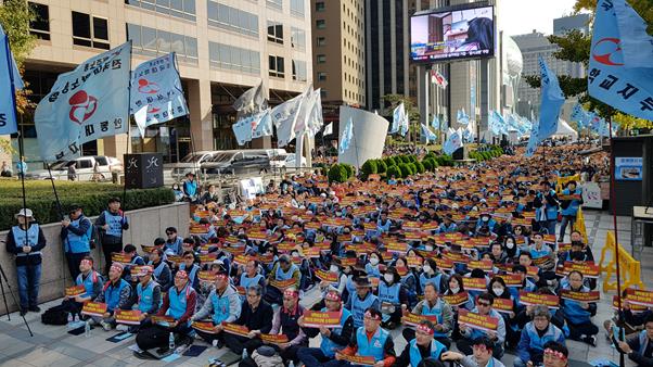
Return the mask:
<svg viewBox="0 0 653 367">
<path fill-rule="evenodd" d="M 91 253 L 93 224 L 84 215 L 80 205 L 71 205 L 68 217 L 61 222 L 61 240 L 71 277 L 77 279 L 79 263 Z"/>
</svg>

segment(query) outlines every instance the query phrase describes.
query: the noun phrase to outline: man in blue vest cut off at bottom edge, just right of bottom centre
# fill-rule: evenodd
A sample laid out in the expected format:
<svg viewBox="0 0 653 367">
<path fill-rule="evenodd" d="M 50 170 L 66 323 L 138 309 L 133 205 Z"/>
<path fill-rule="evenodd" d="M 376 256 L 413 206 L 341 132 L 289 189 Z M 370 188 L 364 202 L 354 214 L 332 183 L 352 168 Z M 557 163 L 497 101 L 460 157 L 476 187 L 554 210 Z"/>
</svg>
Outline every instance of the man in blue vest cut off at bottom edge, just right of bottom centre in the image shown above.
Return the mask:
<svg viewBox="0 0 653 367">
<path fill-rule="evenodd" d="M 420 362 L 426 358 L 440 360 L 448 347 L 434 339 L 435 325 L 428 320 L 421 321 L 417 329 L 414 339 L 406 344 L 404 352 L 397 358 L 395 367 L 418 367 Z"/>
</svg>

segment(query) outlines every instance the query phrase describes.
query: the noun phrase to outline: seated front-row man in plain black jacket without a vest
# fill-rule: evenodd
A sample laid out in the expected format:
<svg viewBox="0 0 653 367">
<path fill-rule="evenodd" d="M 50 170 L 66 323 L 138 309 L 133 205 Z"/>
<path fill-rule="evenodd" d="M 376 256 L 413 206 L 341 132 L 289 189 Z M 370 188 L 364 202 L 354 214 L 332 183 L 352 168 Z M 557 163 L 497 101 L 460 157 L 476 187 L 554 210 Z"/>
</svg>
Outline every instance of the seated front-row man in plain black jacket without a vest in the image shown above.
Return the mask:
<svg viewBox="0 0 653 367">
<path fill-rule="evenodd" d="M 263 345 L 259 338 L 255 338 L 259 333 L 270 333 L 272 329 L 272 306 L 261 300 L 263 289 L 260 286 L 252 286 L 247 288 L 247 299 L 243 302 L 241 316 L 233 322 L 235 325 L 244 325 L 249 330 L 248 338 L 225 334 L 225 344 L 235 354 L 242 354 L 243 350 L 252 353 Z"/>
</svg>

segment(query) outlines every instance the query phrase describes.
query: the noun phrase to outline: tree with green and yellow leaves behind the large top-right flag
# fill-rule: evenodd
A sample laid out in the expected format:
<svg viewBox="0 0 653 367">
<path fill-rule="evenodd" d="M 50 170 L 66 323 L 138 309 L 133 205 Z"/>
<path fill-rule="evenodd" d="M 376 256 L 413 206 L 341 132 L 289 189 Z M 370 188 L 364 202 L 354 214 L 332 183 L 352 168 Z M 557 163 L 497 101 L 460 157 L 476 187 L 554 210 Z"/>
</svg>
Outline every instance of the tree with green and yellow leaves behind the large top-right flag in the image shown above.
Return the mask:
<svg viewBox="0 0 653 367">
<path fill-rule="evenodd" d="M 628 0 L 628 3 L 649 24 L 648 31 L 651 34 L 653 31 L 653 0 Z M 589 11 L 593 14 L 596 10 L 597 0 L 576 0 L 574 5 L 575 13 Z M 558 45 L 560 48 L 553 53 L 555 59 L 581 63 L 588 68 L 591 34 L 584 35 L 579 30 L 572 30 L 564 36 L 551 35 L 548 39 L 551 43 Z M 524 79 L 532 88 L 540 88 L 541 86 L 539 75 L 526 75 Z M 559 75 L 558 79 L 565 98 L 577 97 L 580 103 L 588 110 L 596 111 L 601 117 L 614 117 L 614 121 L 622 124 L 623 129 L 653 127 L 653 122 L 622 114 L 612 106 L 590 97 L 587 92 L 587 78 L 572 78 L 567 75 Z"/>
</svg>

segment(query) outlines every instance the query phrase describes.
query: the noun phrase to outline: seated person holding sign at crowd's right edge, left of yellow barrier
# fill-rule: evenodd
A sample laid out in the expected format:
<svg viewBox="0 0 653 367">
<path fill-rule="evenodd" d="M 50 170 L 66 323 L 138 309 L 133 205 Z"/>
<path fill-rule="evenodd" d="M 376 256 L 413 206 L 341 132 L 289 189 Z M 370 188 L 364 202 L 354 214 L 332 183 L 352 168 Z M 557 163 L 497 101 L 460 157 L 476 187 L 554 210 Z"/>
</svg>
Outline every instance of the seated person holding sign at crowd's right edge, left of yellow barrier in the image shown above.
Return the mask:
<svg viewBox="0 0 653 367">
<path fill-rule="evenodd" d="M 582 284 L 584 277 L 578 270 L 569 271 L 567 276 L 568 286 L 563 287 L 563 290 L 575 292 L 589 292 L 589 288 Z M 569 327 L 569 339 L 582 341 L 592 346 L 597 346 L 597 327 L 591 317 L 597 314 L 596 302 L 580 302 L 572 300 L 560 300 L 560 307 L 565 320 Z"/>
</svg>

